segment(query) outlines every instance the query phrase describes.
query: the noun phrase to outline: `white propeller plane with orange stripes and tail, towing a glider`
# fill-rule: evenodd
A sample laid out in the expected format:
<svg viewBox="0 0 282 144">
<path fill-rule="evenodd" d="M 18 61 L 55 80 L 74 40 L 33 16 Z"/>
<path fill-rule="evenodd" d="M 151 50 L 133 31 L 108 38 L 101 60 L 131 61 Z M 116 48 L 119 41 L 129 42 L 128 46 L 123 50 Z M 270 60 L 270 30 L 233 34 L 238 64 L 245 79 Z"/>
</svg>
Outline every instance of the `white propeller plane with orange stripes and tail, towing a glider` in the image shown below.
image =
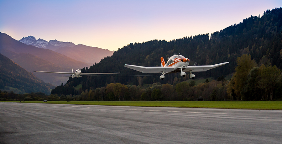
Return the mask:
<svg viewBox="0 0 282 144">
<path fill-rule="evenodd" d="M 190 60 L 185 58 L 184 56 L 174 55 L 169 58 L 167 63 L 165 64 L 164 57 L 161 57 L 161 67 L 142 67 L 142 66 L 134 66 L 134 65 L 124 65 L 124 67 L 142 72 L 142 73 L 162 73 L 159 77 L 160 79 L 165 78 L 165 74 L 180 72 L 180 76 L 185 77 L 185 72 L 190 72 L 190 78 L 194 79 L 195 74 L 193 72 L 206 72 L 207 70 L 225 65 L 229 62 L 223 62 L 215 65 L 208 65 L 208 66 L 188 66 Z"/>
</svg>

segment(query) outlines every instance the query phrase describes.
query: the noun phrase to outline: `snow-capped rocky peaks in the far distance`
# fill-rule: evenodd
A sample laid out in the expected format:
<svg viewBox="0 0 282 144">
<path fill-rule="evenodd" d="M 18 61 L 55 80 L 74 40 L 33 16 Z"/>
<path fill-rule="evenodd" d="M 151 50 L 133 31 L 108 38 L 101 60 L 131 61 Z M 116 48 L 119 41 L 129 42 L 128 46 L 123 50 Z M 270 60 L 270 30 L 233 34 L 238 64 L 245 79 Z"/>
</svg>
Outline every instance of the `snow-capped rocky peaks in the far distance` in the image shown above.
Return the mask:
<svg viewBox="0 0 282 144">
<path fill-rule="evenodd" d="M 50 40 L 49 42 L 46 40 L 42 40 L 42 39 L 38 39 L 36 40 L 34 38 L 34 36 L 30 35 L 28 37 L 23 37 L 22 39 L 18 40 L 26 45 L 33 45 L 39 48 L 44 48 L 44 49 L 49 49 L 52 51 L 57 50 L 60 47 L 73 47 L 75 46 L 74 43 L 72 42 L 62 42 L 62 41 L 58 41 L 58 40 Z"/>
</svg>

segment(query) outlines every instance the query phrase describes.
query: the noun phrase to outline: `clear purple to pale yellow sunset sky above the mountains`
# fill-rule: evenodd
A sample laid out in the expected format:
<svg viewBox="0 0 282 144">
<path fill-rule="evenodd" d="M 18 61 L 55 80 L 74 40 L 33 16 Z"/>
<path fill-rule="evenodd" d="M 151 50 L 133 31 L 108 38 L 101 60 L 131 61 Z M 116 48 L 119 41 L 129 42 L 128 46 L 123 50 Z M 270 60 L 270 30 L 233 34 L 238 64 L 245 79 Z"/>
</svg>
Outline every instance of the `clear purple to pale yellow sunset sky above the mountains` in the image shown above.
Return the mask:
<svg viewBox="0 0 282 144">
<path fill-rule="evenodd" d="M 279 7 L 281 0 L 0 0 L 0 32 L 116 51 L 211 34 Z"/>
</svg>

